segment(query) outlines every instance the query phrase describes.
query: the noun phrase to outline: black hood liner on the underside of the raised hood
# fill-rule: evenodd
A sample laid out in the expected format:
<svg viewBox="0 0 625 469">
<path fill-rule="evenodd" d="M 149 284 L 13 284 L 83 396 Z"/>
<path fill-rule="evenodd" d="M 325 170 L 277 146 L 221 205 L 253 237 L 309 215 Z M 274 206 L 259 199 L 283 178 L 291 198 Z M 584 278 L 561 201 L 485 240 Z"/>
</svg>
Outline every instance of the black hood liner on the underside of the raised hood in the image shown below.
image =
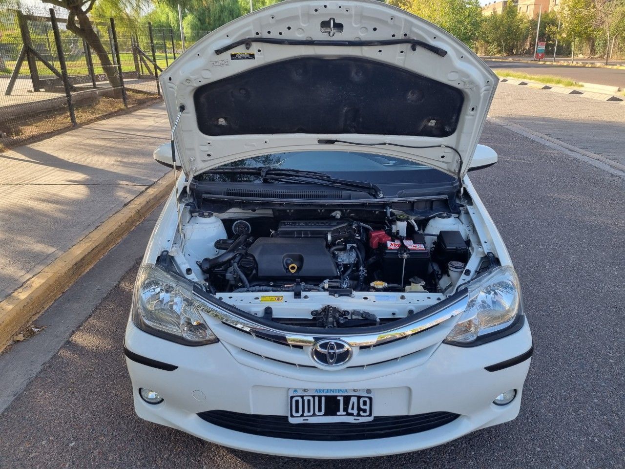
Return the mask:
<svg viewBox="0 0 625 469">
<path fill-rule="evenodd" d="M 206 135 L 377 134 L 446 137 L 462 92 L 361 58 L 303 57 L 253 68 L 196 89 Z"/>
</svg>

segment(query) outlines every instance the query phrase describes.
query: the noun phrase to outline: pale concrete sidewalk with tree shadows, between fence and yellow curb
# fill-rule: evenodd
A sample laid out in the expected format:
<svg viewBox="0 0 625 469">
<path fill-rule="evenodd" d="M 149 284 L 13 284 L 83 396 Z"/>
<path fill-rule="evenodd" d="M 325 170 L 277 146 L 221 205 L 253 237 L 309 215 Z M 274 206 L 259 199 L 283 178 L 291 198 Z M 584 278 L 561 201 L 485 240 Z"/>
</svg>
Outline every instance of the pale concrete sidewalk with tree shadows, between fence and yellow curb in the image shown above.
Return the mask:
<svg viewBox="0 0 625 469">
<path fill-rule="evenodd" d="M 168 169 L 164 104 L 0 153 L 0 301 Z"/>
</svg>

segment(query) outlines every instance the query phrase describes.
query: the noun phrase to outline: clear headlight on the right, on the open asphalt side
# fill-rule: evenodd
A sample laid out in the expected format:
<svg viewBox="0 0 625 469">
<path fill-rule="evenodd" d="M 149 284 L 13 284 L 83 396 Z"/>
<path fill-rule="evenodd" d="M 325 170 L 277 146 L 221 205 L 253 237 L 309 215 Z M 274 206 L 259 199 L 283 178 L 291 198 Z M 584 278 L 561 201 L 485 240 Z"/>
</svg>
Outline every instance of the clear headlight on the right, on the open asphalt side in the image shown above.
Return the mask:
<svg viewBox="0 0 625 469">
<path fill-rule="evenodd" d="M 519 278 L 511 266 L 496 268 L 469 283 L 469 300 L 447 343 L 466 344 L 510 326 L 521 309 Z"/>
</svg>

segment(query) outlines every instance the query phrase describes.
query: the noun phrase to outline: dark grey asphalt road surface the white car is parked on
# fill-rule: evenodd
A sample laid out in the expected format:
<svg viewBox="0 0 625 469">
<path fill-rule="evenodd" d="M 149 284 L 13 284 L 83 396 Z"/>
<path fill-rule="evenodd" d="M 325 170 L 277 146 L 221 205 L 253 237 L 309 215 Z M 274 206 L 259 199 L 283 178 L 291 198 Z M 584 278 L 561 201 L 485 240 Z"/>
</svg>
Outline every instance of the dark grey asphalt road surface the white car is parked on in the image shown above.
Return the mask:
<svg viewBox="0 0 625 469">
<path fill-rule="evenodd" d="M 487 123 L 482 143 L 499 163 L 471 178 L 519 272 L 536 347 L 516 420 L 429 450 L 343 461 L 229 450 L 141 421 L 122 352 L 136 271 L 127 260 L 119 284 L 58 353 L 46 349 L 51 359 L 2 413 L 0 467 L 623 467 L 624 179 L 497 124 Z M 138 261 L 141 246 L 133 243 L 125 256 L 134 252 Z M 80 305 L 90 296 L 73 288 L 62 301 Z M 51 340 L 46 333 L 0 359 L 6 366 L 19 351 L 13 365 L 32 366 Z"/>
</svg>

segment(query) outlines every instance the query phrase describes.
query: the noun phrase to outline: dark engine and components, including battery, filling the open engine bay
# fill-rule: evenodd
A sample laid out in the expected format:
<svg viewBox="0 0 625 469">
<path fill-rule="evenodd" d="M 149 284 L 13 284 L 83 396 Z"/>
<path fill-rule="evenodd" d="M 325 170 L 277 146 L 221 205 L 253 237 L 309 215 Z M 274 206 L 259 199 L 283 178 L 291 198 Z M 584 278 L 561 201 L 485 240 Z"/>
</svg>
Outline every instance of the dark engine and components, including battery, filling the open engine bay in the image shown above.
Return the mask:
<svg viewBox="0 0 625 469">
<path fill-rule="evenodd" d="M 454 228 L 453 221 L 442 214 L 432 227 Z M 384 223 L 259 217 L 224 224 L 231 238 L 214 241 L 218 254 L 198 262 L 213 291 L 441 291 L 441 278 L 458 278 L 469 255 L 466 233 L 427 233 L 405 214 Z"/>
</svg>

